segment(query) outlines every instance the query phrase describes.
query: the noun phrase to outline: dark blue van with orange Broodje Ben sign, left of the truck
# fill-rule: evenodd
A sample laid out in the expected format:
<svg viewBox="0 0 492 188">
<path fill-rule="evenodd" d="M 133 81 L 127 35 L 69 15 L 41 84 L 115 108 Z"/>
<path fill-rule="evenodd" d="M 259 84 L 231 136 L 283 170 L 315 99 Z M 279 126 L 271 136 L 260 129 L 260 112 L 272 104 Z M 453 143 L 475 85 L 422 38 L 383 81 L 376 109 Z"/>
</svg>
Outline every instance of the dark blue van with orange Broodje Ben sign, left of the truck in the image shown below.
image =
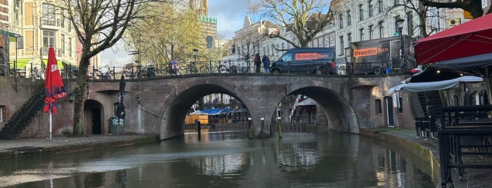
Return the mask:
<svg viewBox="0 0 492 188">
<path fill-rule="evenodd" d="M 293 48 L 270 65 L 271 73 L 336 74 L 334 48 Z"/>
</svg>

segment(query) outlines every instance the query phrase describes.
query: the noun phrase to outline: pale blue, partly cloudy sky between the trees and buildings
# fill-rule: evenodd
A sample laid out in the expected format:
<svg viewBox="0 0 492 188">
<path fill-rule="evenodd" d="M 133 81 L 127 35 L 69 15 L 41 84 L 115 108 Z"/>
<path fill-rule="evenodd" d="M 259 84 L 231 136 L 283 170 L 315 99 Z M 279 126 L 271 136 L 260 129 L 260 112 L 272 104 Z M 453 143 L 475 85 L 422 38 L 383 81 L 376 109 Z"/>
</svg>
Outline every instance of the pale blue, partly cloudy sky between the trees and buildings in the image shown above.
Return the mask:
<svg viewBox="0 0 492 188">
<path fill-rule="evenodd" d="M 231 39 L 234 32 L 242 28 L 247 12 L 247 0 L 208 0 L 208 16 L 217 18 L 217 35 L 222 39 Z M 122 67 L 131 61 L 131 55 L 121 45 L 115 45 L 101 53 L 101 66 Z"/>
</svg>

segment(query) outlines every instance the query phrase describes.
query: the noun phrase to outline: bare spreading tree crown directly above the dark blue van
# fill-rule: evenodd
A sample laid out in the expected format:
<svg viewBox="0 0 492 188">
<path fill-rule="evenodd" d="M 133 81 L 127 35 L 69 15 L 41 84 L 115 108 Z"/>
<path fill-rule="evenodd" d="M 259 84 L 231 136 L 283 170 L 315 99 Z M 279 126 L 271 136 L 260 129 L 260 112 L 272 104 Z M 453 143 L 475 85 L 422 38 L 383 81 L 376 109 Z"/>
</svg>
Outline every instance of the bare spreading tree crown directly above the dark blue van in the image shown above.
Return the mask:
<svg viewBox="0 0 492 188">
<path fill-rule="evenodd" d="M 268 37 L 279 38 L 292 46 L 307 47 L 317 33 L 332 19 L 332 15 L 322 0 L 250 0 L 251 13 L 263 15 L 286 32 L 294 34 L 294 39 L 288 39 L 282 33 L 268 34 Z"/>
</svg>

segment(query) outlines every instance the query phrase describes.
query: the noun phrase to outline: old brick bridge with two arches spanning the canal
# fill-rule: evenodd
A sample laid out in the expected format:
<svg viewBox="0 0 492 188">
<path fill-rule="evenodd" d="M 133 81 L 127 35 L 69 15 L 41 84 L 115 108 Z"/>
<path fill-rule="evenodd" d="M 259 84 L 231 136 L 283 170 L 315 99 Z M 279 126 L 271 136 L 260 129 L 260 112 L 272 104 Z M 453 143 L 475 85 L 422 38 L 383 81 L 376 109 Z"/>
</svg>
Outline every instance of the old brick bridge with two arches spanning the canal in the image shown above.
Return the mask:
<svg viewBox="0 0 492 188">
<path fill-rule="evenodd" d="M 231 95 L 244 104 L 256 135 L 260 133 L 260 119 L 265 118 L 265 125 L 269 126 L 277 104 L 293 94 L 306 95 L 321 105 L 329 128 L 358 133 L 360 128 L 384 126 L 384 117 L 374 116 L 374 100 L 388 97 L 386 90 L 405 76 L 408 74 L 196 74 L 127 80 L 125 133 L 158 134 L 163 140 L 183 135 L 182 125 L 191 105 L 212 93 Z M 86 122 L 102 119 L 102 133 L 109 133 L 106 119 L 113 116 L 118 102 L 118 82 L 88 82 L 84 116 Z M 99 112 L 101 116 L 94 117 Z"/>
</svg>

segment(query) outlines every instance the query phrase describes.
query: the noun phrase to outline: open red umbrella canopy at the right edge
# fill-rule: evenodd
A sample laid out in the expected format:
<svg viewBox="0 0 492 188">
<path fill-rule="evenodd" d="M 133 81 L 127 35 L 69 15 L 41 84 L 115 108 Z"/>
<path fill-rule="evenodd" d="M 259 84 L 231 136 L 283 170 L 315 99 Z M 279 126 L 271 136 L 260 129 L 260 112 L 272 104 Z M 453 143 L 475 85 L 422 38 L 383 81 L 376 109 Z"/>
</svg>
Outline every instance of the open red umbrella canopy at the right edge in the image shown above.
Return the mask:
<svg viewBox="0 0 492 188">
<path fill-rule="evenodd" d="M 492 53 L 492 14 L 415 41 L 417 65 Z"/>
</svg>

